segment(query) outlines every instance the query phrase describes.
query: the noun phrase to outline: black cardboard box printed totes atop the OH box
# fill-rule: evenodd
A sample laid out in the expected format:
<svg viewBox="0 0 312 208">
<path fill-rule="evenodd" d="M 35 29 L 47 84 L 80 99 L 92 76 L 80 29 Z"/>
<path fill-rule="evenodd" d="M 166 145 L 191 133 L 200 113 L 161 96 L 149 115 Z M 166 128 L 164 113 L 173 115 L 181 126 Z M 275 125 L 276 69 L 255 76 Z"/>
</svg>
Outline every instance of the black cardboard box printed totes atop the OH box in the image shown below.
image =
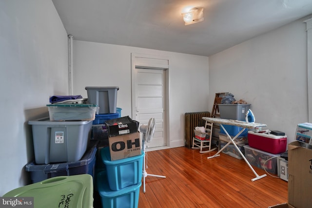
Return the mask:
<svg viewBox="0 0 312 208">
<path fill-rule="evenodd" d="M 105 121 L 109 137 L 119 136 L 138 131 L 139 122 L 132 120 L 129 116 L 115 118 Z"/>
</svg>

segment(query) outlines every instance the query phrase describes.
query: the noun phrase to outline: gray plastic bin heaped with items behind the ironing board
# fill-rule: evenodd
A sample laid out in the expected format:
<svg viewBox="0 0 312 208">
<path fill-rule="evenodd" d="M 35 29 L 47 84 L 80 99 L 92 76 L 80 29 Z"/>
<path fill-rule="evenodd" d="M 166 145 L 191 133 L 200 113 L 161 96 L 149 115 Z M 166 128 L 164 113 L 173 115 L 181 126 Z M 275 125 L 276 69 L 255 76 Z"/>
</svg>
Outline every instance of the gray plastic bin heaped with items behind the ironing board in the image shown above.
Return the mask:
<svg viewBox="0 0 312 208">
<path fill-rule="evenodd" d="M 218 106 L 220 118 L 245 121 L 251 104 L 218 104 Z"/>
</svg>

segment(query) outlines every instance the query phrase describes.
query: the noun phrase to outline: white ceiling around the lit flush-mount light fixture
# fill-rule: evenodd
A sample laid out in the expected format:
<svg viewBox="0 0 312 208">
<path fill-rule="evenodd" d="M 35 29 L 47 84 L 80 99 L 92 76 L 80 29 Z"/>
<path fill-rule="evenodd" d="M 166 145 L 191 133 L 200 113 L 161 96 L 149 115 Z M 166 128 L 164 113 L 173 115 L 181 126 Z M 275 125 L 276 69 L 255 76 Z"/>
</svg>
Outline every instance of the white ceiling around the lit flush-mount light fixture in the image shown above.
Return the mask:
<svg viewBox="0 0 312 208">
<path fill-rule="evenodd" d="M 312 0 L 52 0 L 76 40 L 211 56 L 312 14 Z M 204 21 L 184 25 L 186 6 Z"/>
</svg>

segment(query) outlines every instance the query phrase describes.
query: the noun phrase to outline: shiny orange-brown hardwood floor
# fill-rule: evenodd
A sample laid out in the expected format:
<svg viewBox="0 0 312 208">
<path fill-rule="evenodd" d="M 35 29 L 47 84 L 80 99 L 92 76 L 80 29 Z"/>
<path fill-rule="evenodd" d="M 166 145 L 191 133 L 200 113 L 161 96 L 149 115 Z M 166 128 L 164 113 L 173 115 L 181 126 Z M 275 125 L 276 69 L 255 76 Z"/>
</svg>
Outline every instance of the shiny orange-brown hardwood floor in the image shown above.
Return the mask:
<svg viewBox="0 0 312 208">
<path fill-rule="evenodd" d="M 267 208 L 287 202 L 286 181 L 268 175 L 252 182 L 255 175 L 244 160 L 223 153 L 207 159 L 215 153 L 186 147 L 147 152 L 147 172 L 166 178 L 146 177 L 138 208 Z"/>
</svg>

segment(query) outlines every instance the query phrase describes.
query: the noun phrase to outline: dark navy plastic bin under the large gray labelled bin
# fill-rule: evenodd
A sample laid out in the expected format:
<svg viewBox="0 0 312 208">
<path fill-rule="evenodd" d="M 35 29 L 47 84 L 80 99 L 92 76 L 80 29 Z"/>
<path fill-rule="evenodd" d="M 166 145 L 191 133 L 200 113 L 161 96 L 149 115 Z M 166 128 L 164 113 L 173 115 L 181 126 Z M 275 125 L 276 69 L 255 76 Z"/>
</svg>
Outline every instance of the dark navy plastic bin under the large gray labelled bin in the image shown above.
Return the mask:
<svg viewBox="0 0 312 208">
<path fill-rule="evenodd" d="M 25 170 L 30 172 L 32 183 L 37 183 L 56 176 L 78 174 L 94 176 L 98 143 L 98 140 L 91 140 L 90 148 L 88 148 L 79 161 L 48 165 L 37 165 L 35 161 L 33 161 L 26 165 Z"/>
</svg>

